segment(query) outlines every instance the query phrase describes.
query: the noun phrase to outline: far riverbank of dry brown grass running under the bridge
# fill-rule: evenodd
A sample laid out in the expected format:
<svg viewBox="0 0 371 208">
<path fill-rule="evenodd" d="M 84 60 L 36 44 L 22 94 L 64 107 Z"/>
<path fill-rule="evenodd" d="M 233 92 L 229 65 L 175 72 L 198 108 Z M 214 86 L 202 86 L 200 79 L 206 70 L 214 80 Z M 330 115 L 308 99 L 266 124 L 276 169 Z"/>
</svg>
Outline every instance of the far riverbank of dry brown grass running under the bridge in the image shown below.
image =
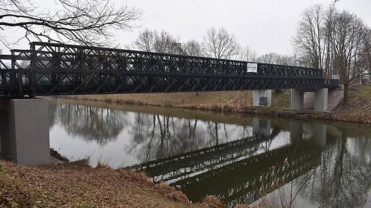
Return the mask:
<svg viewBox="0 0 371 208">
<path fill-rule="evenodd" d="M 324 113 L 313 110 L 290 110 L 290 90 L 273 92 L 271 108 L 253 107 L 252 91 L 73 95 L 63 96 L 63 98 L 172 108 L 221 110 L 235 113 L 280 116 L 300 120 L 336 120 L 353 123 L 371 123 L 371 86 L 352 86 L 347 105 L 341 104 L 332 112 Z"/>
</svg>

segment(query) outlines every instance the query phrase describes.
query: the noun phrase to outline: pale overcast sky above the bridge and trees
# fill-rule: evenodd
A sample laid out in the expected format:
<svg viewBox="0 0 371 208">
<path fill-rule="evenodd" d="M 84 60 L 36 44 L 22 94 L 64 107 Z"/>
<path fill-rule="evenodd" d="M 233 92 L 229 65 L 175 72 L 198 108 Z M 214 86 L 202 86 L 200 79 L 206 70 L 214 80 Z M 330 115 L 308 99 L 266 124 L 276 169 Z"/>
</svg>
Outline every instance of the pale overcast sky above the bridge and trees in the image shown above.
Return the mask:
<svg viewBox="0 0 371 208">
<path fill-rule="evenodd" d="M 39 1 L 45 5 L 51 0 Z M 224 26 L 241 46 L 263 54 L 292 53 L 291 40 L 301 12 L 314 4 L 327 6 L 332 0 L 115 0 L 115 4 L 143 11 L 140 28 L 116 32 L 121 47 L 144 28 L 170 31 L 180 41 L 201 41 L 207 28 Z M 336 7 L 354 12 L 371 26 L 371 0 L 340 0 Z"/>
</svg>

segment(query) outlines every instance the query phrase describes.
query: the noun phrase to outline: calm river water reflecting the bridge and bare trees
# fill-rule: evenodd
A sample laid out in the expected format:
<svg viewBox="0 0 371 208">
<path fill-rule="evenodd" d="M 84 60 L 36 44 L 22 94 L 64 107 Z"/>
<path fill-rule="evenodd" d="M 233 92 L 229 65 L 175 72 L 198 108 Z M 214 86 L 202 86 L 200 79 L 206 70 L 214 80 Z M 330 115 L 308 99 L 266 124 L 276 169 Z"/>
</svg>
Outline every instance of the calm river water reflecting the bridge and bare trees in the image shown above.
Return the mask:
<svg viewBox="0 0 371 208">
<path fill-rule="evenodd" d="M 96 144 L 88 146 L 98 155 L 92 165 L 103 158 L 112 167 L 143 170 L 193 202 L 213 194 L 233 207 L 293 184 L 304 207 L 369 203 L 370 126 L 71 100 L 50 106 L 51 145 L 62 154 L 78 157 Z M 68 137 L 54 137 L 57 127 Z M 71 152 L 69 137 L 85 146 Z M 272 167 L 282 184 L 269 180 Z"/>
</svg>

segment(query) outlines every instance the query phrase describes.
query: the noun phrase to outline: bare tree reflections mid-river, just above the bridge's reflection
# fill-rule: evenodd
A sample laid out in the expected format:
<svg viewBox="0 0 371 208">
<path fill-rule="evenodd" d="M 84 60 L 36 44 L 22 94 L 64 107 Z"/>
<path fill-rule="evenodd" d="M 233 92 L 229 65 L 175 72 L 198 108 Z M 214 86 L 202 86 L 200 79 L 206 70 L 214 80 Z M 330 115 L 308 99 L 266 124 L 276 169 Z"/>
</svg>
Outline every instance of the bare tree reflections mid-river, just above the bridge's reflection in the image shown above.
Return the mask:
<svg viewBox="0 0 371 208">
<path fill-rule="evenodd" d="M 248 135 L 248 127 L 224 125 L 198 119 L 174 118 L 169 115 L 135 113 L 126 152 L 136 153 L 141 162 L 193 152 L 204 147 L 240 139 Z M 251 135 L 251 130 L 250 130 Z"/>
</svg>

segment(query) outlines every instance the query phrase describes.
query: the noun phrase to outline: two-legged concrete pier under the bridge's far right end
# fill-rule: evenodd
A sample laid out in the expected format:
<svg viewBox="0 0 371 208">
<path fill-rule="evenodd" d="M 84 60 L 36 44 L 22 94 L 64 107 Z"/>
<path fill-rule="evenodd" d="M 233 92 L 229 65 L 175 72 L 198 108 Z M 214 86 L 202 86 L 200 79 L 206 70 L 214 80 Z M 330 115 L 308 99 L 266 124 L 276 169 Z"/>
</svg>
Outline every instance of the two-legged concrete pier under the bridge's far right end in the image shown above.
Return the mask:
<svg viewBox="0 0 371 208">
<path fill-rule="evenodd" d="M 312 90 L 291 89 L 291 109 L 303 110 L 304 108 L 304 93 Z M 320 88 L 315 92 L 315 110 L 327 111 L 328 103 L 328 88 Z"/>
</svg>

